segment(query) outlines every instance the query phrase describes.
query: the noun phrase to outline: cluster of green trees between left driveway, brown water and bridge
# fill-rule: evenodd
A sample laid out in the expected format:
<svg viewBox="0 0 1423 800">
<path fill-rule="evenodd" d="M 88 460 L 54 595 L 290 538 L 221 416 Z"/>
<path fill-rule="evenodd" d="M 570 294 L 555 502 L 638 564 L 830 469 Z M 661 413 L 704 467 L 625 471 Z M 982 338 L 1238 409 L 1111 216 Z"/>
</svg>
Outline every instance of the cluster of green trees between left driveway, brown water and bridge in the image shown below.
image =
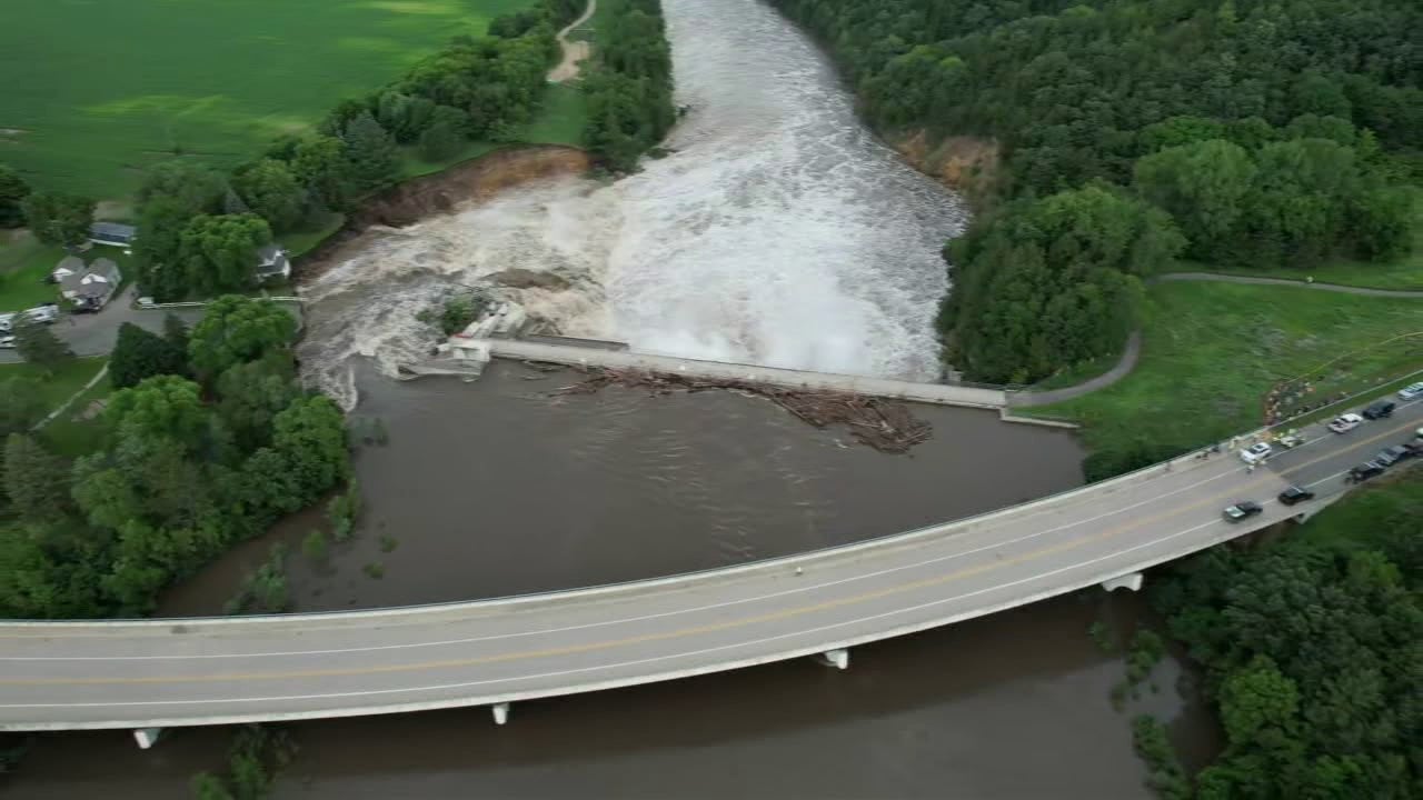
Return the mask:
<svg viewBox="0 0 1423 800">
<path fill-rule="evenodd" d="M 48 409 L 0 384 L 0 618 L 137 616 L 158 592 L 350 475 L 346 420 L 300 389 L 296 320 L 219 298 L 191 332 L 120 332 L 98 447 L 30 436 Z"/>
</svg>

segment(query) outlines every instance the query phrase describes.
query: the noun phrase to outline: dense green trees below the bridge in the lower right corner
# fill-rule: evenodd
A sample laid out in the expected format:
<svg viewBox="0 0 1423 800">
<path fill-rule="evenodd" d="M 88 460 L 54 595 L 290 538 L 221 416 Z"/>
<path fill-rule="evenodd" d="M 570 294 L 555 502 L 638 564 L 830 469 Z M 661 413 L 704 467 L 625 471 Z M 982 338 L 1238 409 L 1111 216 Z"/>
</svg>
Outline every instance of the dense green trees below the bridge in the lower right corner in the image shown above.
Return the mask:
<svg viewBox="0 0 1423 800">
<path fill-rule="evenodd" d="M 1259 551 L 1207 551 L 1151 591 L 1225 729 L 1200 800 L 1423 796 L 1423 493 L 1405 481 Z"/>
</svg>

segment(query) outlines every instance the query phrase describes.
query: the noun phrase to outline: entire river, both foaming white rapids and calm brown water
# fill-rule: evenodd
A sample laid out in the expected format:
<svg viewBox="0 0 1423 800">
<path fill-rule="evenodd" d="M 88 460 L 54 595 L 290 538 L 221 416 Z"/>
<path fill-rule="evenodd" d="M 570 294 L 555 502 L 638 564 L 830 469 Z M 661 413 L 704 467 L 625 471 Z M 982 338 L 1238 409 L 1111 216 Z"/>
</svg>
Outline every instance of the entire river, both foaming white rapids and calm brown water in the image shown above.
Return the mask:
<svg viewBox="0 0 1423 800">
<path fill-rule="evenodd" d="M 330 562 L 290 558 L 297 608 L 492 596 L 737 564 L 973 514 L 1076 485 L 1072 437 L 992 414 L 918 409 L 906 456 L 814 430 L 726 391 L 552 397 L 575 377 L 499 364 L 480 381 L 394 383 L 431 343 L 414 313 L 491 273 L 549 272 L 511 292 L 546 325 L 647 350 L 932 377 L 938 251 L 959 201 L 854 118 L 827 60 L 756 0 L 665 0 L 677 98 L 672 155 L 615 184 L 528 186 L 401 231 L 306 288 L 307 374 L 386 446 L 363 447 L 367 511 Z M 370 360 L 357 356 L 370 356 Z M 357 407 L 357 397 L 360 404 Z M 178 586 L 166 614 L 212 612 L 287 520 Z M 383 578 L 361 574 L 380 562 Z M 282 799 L 965 797 L 1147 799 L 1130 713 L 1170 720 L 1200 763 L 1212 727 L 1164 663 L 1109 702 L 1134 596 L 1057 598 L 857 648 L 848 670 L 776 663 L 515 706 L 293 725 Z M 186 797 L 228 733 L 37 737 L 16 799 Z"/>
</svg>

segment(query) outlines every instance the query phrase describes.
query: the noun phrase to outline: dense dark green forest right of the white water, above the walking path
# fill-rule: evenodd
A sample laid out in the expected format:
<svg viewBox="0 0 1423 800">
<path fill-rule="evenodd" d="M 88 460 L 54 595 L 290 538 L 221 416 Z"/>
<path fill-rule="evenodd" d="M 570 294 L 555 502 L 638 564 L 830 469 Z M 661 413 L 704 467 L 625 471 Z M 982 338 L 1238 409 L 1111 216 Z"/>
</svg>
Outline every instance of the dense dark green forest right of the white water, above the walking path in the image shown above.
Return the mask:
<svg viewBox="0 0 1423 800">
<path fill-rule="evenodd" d="M 1407 251 L 1423 7 L 1386 0 L 773 0 L 891 138 L 990 140 L 945 354 L 1027 383 L 1120 349 L 1173 259 Z"/>
</svg>

